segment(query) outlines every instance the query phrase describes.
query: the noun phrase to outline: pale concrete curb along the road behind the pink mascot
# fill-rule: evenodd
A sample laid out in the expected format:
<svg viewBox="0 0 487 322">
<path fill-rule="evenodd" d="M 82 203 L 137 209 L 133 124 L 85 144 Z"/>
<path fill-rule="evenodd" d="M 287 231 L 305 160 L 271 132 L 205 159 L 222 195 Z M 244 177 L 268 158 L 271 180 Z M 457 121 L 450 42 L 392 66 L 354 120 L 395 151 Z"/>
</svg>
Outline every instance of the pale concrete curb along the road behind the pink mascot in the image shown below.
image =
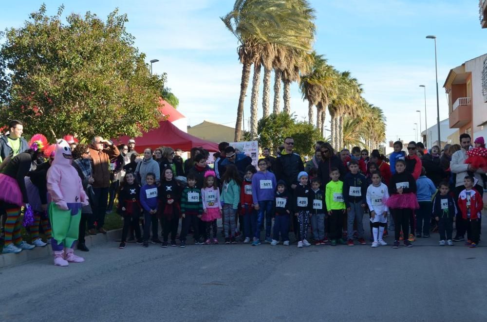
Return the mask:
<svg viewBox="0 0 487 322">
<path fill-rule="evenodd" d="M 121 235 L 121 229 L 112 230 L 106 234 L 98 233 L 96 235 L 86 235 L 85 244 L 90 248 L 93 245 L 120 239 Z M 52 250 L 49 245 L 45 247 L 36 247 L 33 250 L 22 250 L 18 254 L 0 254 L 0 268 L 19 265 L 50 256 L 52 256 Z"/>
</svg>

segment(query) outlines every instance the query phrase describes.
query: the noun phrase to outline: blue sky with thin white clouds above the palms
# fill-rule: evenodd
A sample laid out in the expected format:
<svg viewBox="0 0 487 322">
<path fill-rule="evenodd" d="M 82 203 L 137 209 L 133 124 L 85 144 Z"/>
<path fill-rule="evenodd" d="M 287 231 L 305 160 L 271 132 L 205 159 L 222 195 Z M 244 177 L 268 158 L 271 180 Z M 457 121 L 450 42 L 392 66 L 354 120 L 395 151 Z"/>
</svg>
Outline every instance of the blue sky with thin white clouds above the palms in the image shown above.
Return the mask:
<svg viewBox="0 0 487 322">
<path fill-rule="evenodd" d="M 189 125 L 208 120 L 234 126 L 242 65 L 235 37 L 220 20 L 232 0 L 5 1 L 0 29 L 19 27 L 45 2 L 53 15 L 91 11 L 105 18 L 115 7 L 127 13 L 128 31 L 147 54 L 154 73 L 167 72 L 168 85 L 180 100 Z M 316 9 L 315 49 L 338 70 L 348 70 L 363 84 L 364 97 L 387 117 L 387 140 L 414 138 L 417 109 L 426 85 L 428 126 L 436 122 L 434 44 L 437 36 L 440 119 L 448 117 L 442 88 L 451 68 L 487 52 L 487 29 L 479 23 L 477 0 L 311 0 Z M 248 89 L 250 97 L 250 86 Z M 261 89 L 262 95 L 262 89 Z M 292 85 L 291 108 L 307 116 L 307 103 Z M 250 116 L 245 102 L 245 128 Z M 260 103 L 261 104 L 261 103 Z M 282 99 L 281 99 L 282 104 Z M 260 105 L 261 106 L 261 105 Z M 262 109 L 260 109 L 260 116 Z M 327 127 L 329 117 L 327 116 Z"/>
</svg>

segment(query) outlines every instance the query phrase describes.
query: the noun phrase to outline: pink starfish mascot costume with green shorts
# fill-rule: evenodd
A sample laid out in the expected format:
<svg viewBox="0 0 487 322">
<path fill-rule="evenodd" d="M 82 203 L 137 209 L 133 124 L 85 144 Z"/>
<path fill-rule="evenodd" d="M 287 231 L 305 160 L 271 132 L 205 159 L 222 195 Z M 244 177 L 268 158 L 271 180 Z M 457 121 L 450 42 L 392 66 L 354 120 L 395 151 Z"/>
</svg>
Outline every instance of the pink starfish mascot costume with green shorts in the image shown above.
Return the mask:
<svg viewBox="0 0 487 322">
<path fill-rule="evenodd" d="M 78 239 L 81 207 L 88 205 L 88 197 L 72 161 L 69 144 L 57 141 L 54 161 L 47 171 L 47 191 L 51 197 L 49 219 L 53 229 L 51 246 L 56 266 L 84 262 L 73 253 L 73 248 Z"/>
</svg>

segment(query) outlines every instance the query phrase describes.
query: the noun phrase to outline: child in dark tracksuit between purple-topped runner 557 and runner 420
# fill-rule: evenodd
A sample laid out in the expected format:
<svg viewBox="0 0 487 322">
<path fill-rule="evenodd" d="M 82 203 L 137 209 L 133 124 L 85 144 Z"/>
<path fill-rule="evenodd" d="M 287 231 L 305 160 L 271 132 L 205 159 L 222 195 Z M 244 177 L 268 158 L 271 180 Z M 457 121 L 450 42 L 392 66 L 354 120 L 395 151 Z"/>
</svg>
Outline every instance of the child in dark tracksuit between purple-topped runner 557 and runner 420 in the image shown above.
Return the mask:
<svg viewBox="0 0 487 322">
<path fill-rule="evenodd" d="M 279 233 L 281 233 L 282 244 L 289 246 L 289 215 L 292 210 L 292 202 L 284 180 L 279 180 L 277 183 L 274 207 L 276 217 L 274 219 L 274 239 L 271 245 L 279 244 Z"/>
</svg>

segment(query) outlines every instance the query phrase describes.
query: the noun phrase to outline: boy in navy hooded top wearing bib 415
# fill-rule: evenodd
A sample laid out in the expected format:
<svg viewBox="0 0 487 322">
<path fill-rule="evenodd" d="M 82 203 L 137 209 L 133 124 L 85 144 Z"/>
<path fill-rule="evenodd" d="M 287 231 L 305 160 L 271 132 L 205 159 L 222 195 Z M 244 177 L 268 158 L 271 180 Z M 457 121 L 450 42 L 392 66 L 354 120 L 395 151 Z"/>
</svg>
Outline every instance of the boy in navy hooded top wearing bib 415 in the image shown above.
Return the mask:
<svg viewBox="0 0 487 322">
<path fill-rule="evenodd" d="M 358 163 L 351 160 L 348 168 L 350 172 L 343 179 L 343 199 L 348 211 L 347 245 L 354 246 L 354 221 L 357 223 L 357 238 L 361 245 L 367 244 L 364 239 L 363 217 L 367 204 L 367 180 L 358 170 Z"/>
</svg>

